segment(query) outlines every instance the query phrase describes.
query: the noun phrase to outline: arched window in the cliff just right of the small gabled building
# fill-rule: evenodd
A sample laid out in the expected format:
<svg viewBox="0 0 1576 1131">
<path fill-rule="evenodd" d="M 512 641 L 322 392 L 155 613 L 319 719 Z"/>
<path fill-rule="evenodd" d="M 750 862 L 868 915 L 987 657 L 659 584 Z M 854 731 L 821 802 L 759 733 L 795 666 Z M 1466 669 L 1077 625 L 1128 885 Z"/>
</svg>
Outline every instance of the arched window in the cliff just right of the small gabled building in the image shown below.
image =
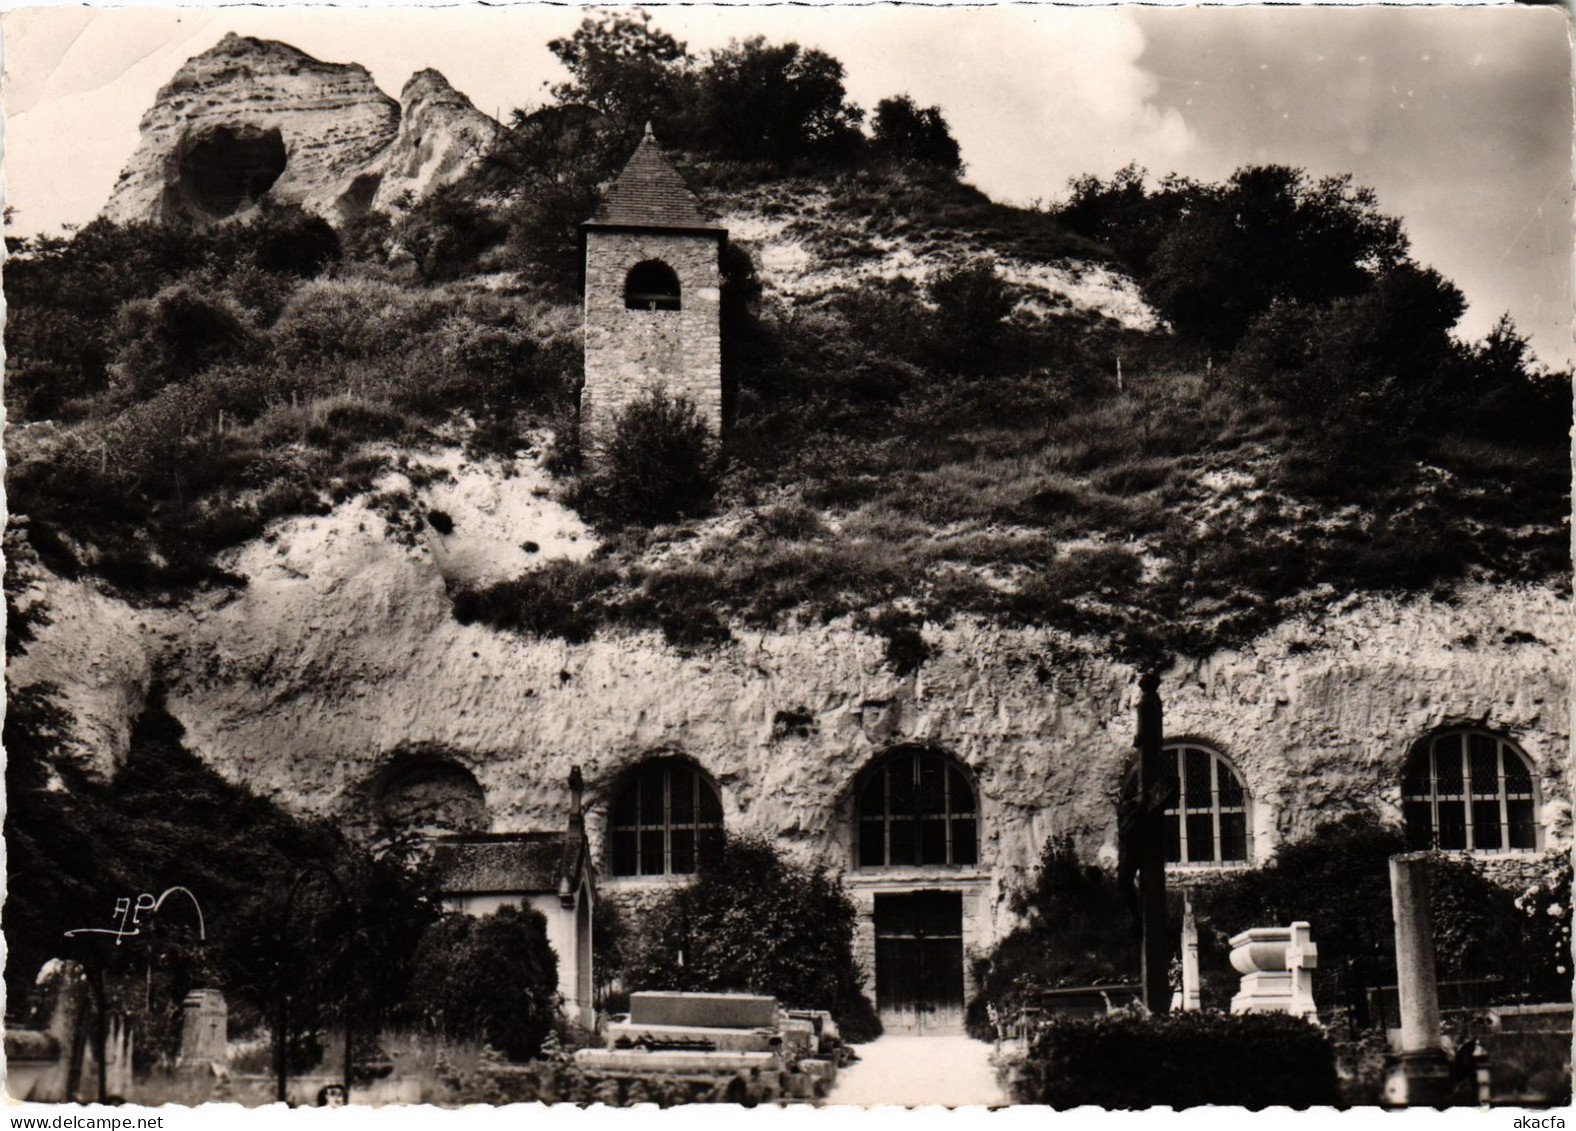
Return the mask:
<svg viewBox="0 0 1576 1131">
<path fill-rule="evenodd" d="M 687 876 L 722 836 L 717 788 L 682 758 L 635 767 L 611 816 L 615 876 Z"/>
</svg>

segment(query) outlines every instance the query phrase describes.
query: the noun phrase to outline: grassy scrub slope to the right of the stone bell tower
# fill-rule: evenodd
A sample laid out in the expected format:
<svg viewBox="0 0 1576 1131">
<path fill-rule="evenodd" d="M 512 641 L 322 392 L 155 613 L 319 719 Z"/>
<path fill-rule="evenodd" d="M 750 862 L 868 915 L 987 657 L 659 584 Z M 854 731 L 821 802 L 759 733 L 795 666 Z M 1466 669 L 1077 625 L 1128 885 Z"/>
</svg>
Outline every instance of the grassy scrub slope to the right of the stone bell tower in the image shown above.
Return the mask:
<svg viewBox="0 0 1576 1131">
<path fill-rule="evenodd" d="M 542 610 L 567 602 L 575 632 L 656 624 L 693 647 L 728 624 L 854 614 L 900 649 L 922 621 L 980 614 L 1146 658 L 1240 643 L 1351 591 L 1444 595 L 1467 577 L 1568 572 L 1560 452 L 1463 433 L 1336 454 L 1163 334 L 1028 317 L 1021 288 L 999 364 L 949 373 L 903 353 L 881 310 L 860 321 L 840 306 L 849 279 L 1091 252 L 1043 214 L 930 187 L 714 187 L 719 211 L 771 217 L 808 247 L 793 293 L 772 285 L 771 249 L 753 249 L 766 331 L 739 362 L 725 514 L 624 532 L 580 575 L 476 594 L 466 616 L 555 632 Z M 900 299 L 900 315 L 936 320 L 922 293 Z M 883 358 L 919 376 L 872 384 Z"/>
</svg>

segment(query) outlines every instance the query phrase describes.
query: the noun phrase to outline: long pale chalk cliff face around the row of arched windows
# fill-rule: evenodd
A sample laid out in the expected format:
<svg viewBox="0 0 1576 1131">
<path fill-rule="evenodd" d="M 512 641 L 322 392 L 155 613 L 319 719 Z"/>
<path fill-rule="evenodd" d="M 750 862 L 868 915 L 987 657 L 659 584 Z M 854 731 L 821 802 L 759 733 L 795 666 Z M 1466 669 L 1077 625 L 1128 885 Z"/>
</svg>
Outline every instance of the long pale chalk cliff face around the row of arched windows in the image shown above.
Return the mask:
<svg viewBox="0 0 1576 1131">
<path fill-rule="evenodd" d="M 451 466 L 452 480 L 419 506 L 446 510 L 454 529 L 429 528 L 416 545 L 385 537 L 383 520 L 351 501 L 281 523 L 230 562 L 246 589 L 184 608 L 134 613 L 50 583 L 54 624 L 14 674 L 61 684 L 80 732 L 112 761 L 159 671 L 189 745 L 299 811 L 364 814 L 380 775 L 418 751 L 474 775 L 492 830 L 552 829 L 580 766 L 597 852 L 619 773 L 667 750 L 716 778 L 730 829 L 842 870 L 857 772 L 892 743 L 930 742 L 979 784 L 988 873 L 971 945 L 1002 929 L 1002 888 L 1048 835 L 1114 862 L 1133 740 L 1128 668 L 1050 632 L 968 621 L 927 629 L 935 657 L 906 677 L 884 665 L 879 640 L 846 622 L 739 633 L 693 657 L 652 633 L 566 644 L 462 625 L 449 581 L 583 556 L 591 540 L 534 493 L 541 473 L 504 479 L 457 455 Z M 523 539 L 541 548 L 523 550 Z M 1568 843 L 1570 627 L 1567 599 L 1548 588 L 1351 599 L 1166 673 L 1166 732 L 1234 761 L 1251 795 L 1254 858 L 1325 818 L 1398 819 L 1409 748 L 1461 723 L 1521 743 L 1543 838 Z"/>
</svg>

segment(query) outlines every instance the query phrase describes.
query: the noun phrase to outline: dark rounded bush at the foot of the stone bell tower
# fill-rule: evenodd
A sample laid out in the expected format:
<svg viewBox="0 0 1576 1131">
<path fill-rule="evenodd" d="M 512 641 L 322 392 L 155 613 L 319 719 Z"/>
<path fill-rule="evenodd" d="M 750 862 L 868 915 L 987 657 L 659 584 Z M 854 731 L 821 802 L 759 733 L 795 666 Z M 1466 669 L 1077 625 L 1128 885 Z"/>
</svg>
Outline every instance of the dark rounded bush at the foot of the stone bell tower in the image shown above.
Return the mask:
<svg viewBox="0 0 1576 1131">
<path fill-rule="evenodd" d="M 615 416 L 596 465 L 594 510 L 619 526 L 704 514 L 720 476 L 717 443 L 695 403 L 660 388 Z"/>
</svg>

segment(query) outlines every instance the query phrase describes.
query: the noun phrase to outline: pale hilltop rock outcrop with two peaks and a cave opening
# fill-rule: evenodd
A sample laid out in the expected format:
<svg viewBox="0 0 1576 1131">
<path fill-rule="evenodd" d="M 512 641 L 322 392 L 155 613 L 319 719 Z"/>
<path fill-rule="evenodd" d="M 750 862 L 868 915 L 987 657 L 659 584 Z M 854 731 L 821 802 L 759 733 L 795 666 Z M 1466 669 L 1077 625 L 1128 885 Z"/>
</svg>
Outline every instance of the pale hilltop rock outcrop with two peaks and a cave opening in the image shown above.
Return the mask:
<svg viewBox="0 0 1576 1131">
<path fill-rule="evenodd" d="M 492 129 L 437 71 L 414 76 L 402 106 L 356 63 L 232 33 L 159 91 L 104 216 L 202 225 L 266 197 L 347 219 L 452 181 Z"/>
</svg>

